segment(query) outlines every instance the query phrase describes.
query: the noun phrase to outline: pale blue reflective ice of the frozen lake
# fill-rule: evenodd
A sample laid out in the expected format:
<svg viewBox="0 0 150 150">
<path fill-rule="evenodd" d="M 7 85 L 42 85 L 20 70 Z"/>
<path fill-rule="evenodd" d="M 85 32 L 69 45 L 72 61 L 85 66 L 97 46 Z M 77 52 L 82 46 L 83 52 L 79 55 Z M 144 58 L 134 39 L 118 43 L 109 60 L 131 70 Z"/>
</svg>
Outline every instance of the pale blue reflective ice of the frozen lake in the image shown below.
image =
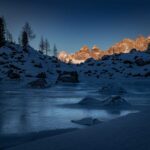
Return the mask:
<svg viewBox="0 0 150 150">
<path fill-rule="evenodd" d="M 123 97 L 134 105 L 150 104 L 150 82 L 122 83 L 127 93 Z M 14 84 L 11 82 L 10 84 Z M 0 135 L 22 134 L 62 128 L 84 128 L 71 120 L 94 117 L 107 121 L 137 110 L 79 109 L 61 107 L 79 102 L 86 96 L 104 99 L 97 92 L 102 84 L 58 84 L 47 89 L 27 89 L 11 85 L 0 86 Z"/>
</svg>

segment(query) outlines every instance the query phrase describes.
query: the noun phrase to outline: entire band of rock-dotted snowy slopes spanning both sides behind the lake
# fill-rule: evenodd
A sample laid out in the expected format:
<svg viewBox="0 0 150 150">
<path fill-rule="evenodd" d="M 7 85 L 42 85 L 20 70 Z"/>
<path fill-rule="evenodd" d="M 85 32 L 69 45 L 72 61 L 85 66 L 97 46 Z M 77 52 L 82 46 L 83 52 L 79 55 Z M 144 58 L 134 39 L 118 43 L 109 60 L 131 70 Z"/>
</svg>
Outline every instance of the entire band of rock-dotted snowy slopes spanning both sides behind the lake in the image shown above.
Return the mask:
<svg viewBox="0 0 150 150">
<path fill-rule="evenodd" d="M 101 60 L 88 59 L 82 64 L 66 64 L 28 47 L 28 53 L 19 45 L 7 44 L 0 48 L 0 79 L 19 79 L 25 83 L 44 78 L 48 85 L 56 83 L 64 72 L 77 72 L 79 81 L 99 81 L 117 78 L 148 78 L 150 54 L 132 51 L 126 54 L 104 56 Z"/>
</svg>

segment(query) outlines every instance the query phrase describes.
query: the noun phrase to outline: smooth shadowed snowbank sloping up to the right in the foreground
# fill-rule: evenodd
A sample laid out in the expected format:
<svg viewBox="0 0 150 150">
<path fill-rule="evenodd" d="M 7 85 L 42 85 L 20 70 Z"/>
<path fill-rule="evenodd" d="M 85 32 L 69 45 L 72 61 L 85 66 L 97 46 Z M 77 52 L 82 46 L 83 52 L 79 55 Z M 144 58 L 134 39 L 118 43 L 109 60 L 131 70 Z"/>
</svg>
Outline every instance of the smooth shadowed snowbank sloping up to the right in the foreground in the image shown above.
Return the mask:
<svg viewBox="0 0 150 150">
<path fill-rule="evenodd" d="M 125 142 L 125 143 L 129 142 L 127 145 L 129 146 L 129 148 L 138 147 L 137 150 L 144 150 L 144 149 L 141 149 L 140 147 L 142 146 L 141 142 L 143 142 L 144 140 L 144 142 L 150 143 L 150 139 L 148 138 L 150 136 L 150 132 L 148 132 L 149 125 L 150 125 L 150 120 L 148 120 L 149 117 L 150 117 L 150 110 L 146 108 L 146 109 L 142 109 L 142 111 L 139 113 L 123 116 L 117 119 L 113 119 L 109 122 L 105 122 L 105 123 L 95 125 L 92 127 L 87 127 L 82 130 L 77 130 L 74 132 L 69 132 L 69 133 L 57 135 L 54 137 L 38 139 L 33 142 L 31 141 L 31 142 L 28 142 L 28 143 L 25 143 L 16 147 L 12 147 L 9 150 L 20 150 L 20 149 L 22 150 L 24 149 L 60 150 L 61 148 L 65 150 L 69 150 L 72 148 L 78 149 L 78 150 L 83 150 L 83 149 L 90 150 L 93 147 L 96 148 L 95 150 L 98 150 L 100 147 L 102 148 L 102 150 L 103 149 L 110 150 L 111 148 L 109 147 L 114 147 L 116 148 L 116 150 L 119 150 L 120 148 L 124 150 L 124 148 L 126 147 L 122 147 L 122 145 L 119 145 L 119 143 L 118 145 L 114 145 L 115 144 L 115 139 L 113 138 L 114 134 L 118 142 L 119 141 Z M 145 122 L 142 122 L 142 121 L 145 121 Z M 129 132 L 127 132 L 126 130 Z M 138 135 L 133 134 L 135 131 L 139 131 L 137 133 Z M 119 134 L 116 134 L 116 133 L 119 133 Z M 140 137 L 140 134 L 143 134 L 143 133 L 148 134 L 146 135 L 148 136 L 147 139 L 142 139 L 142 137 Z M 125 137 L 122 138 L 122 136 L 125 136 Z M 109 144 L 106 143 L 107 141 L 104 140 L 105 139 L 104 137 L 112 138 L 111 141 L 108 141 L 110 142 Z M 128 141 L 124 140 L 124 138 L 128 139 Z M 135 143 L 130 142 L 131 138 L 137 141 L 140 140 L 141 142 L 140 141 L 135 142 Z M 97 145 L 94 145 L 93 142 L 94 144 L 97 144 Z M 150 144 L 145 145 L 145 146 L 150 148 Z"/>
</svg>

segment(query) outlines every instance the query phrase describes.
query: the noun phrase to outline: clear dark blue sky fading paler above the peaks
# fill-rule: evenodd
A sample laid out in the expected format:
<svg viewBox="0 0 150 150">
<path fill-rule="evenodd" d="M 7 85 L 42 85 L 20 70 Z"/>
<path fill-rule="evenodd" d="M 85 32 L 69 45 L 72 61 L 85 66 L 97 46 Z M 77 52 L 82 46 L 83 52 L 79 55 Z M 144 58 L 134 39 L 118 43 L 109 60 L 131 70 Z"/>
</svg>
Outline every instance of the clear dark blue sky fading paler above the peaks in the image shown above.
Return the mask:
<svg viewBox="0 0 150 150">
<path fill-rule="evenodd" d="M 107 49 L 124 38 L 150 34 L 149 0 L 0 0 L 0 15 L 17 38 L 24 22 L 59 50 L 74 52 L 83 45 Z"/>
</svg>

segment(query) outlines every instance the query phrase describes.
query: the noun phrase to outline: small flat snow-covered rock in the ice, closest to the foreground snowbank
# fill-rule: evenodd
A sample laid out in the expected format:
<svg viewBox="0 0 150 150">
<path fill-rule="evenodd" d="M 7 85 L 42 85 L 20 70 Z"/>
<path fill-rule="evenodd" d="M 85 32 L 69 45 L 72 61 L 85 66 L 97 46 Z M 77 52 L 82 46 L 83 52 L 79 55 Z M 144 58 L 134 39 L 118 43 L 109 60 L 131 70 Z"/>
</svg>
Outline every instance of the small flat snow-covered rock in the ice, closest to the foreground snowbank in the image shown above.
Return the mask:
<svg viewBox="0 0 150 150">
<path fill-rule="evenodd" d="M 91 117 L 83 118 L 83 119 L 80 119 L 80 120 L 71 120 L 71 122 L 77 123 L 77 124 L 80 124 L 80 125 L 87 125 L 87 126 L 92 126 L 92 125 L 101 123 L 100 120 L 98 120 L 96 118 L 91 118 Z"/>
</svg>

